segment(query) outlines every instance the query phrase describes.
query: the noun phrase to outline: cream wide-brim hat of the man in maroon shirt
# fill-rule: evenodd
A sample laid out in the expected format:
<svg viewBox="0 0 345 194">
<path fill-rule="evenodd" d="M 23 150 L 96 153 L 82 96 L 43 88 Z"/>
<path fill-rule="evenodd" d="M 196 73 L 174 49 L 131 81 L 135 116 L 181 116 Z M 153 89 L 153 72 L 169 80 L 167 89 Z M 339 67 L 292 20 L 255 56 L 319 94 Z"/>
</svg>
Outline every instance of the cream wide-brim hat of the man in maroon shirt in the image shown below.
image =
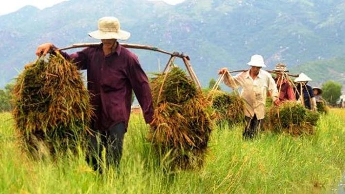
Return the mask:
<svg viewBox="0 0 345 194">
<path fill-rule="evenodd" d="M 98 30 L 90 32 L 88 35 L 96 39 L 127 40 L 131 33 L 121 30 L 118 18 L 106 16 L 98 20 Z"/>
</svg>

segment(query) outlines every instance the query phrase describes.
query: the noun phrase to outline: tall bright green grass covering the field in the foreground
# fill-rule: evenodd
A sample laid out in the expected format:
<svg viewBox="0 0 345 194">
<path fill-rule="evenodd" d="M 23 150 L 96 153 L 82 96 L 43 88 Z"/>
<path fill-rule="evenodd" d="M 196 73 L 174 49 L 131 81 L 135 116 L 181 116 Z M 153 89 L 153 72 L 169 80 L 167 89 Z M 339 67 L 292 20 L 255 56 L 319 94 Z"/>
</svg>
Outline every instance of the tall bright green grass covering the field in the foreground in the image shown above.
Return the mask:
<svg viewBox="0 0 345 194">
<path fill-rule="evenodd" d="M 0 114 L 0 194 L 276 194 L 337 193 L 345 167 L 345 110 L 322 115 L 312 136 L 262 132 L 243 140 L 243 126 L 214 129 L 205 166 L 166 172 L 132 115 L 120 174 L 91 170 L 85 155 L 33 161 L 22 153 L 10 113 Z"/>
</svg>

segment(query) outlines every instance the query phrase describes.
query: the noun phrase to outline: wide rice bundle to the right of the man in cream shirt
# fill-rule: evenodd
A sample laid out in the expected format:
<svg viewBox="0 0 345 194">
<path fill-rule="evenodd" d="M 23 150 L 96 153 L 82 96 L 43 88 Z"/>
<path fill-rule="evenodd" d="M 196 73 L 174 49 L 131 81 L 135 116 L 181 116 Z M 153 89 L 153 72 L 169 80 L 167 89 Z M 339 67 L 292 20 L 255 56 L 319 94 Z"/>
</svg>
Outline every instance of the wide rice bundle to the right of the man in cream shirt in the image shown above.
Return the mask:
<svg viewBox="0 0 345 194">
<path fill-rule="evenodd" d="M 272 107 L 267 116 L 265 126 L 269 130 L 292 135 L 313 134 L 319 119 L 319 113 L 307 110 L 296 101 L 286 101 L 278 108 Z"/>
</svg>

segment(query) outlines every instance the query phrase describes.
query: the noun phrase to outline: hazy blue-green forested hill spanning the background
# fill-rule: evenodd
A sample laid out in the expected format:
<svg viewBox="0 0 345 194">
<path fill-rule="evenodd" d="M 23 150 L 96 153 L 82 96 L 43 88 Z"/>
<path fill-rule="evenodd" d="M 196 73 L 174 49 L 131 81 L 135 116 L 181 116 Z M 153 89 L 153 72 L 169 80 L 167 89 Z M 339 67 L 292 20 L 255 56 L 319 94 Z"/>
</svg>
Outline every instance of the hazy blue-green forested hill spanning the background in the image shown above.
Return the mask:
<svg viewBox="0 0 345 194">
<path fill-rule="evenodd" d="M 39 44 L 95 42 L 87 33 L 97 30 L 102 16 L 120 19 L 121 28 L 132 33 L 128 43 L 188 54 L 203 86 L 217 78 L 220 67 L 246 68 L 256 53 L 264 56 L 268 69 L 277 62 L 322 65 L 345 54 L 344 0 L 186 0 L 175 6 L 147 0 L 69 0 L 0 16 L 0 87 L 35 60 Z M 134 51 L 148 72 L 158 70 L 157 59 L 163 66 L 169 58 Z M 343 79 L 343 67 L 328 68 L 337 73 L 322 75 L 323 80 Z"/>
</svg>

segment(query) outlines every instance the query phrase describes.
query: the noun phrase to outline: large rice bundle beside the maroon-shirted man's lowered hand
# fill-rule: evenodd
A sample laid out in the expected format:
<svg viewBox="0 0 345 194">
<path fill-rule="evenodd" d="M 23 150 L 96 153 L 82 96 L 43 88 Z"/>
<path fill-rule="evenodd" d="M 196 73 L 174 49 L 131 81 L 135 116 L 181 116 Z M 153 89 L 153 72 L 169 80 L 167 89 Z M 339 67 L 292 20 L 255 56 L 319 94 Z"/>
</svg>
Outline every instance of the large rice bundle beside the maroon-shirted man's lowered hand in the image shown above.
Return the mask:
<svg viewBox="0 0 345 194">
<path fill-rule="evenodd" d="M 149 140 L 156 153 L 167 160 L 172 169 L 193 169 L 203 165 L 211 132 L 212 110 L 201 91 L 178 67 L 151 82 L 155 113 Z M 160 99 L 159 90 L 163 85 Z"/>
</svg>

